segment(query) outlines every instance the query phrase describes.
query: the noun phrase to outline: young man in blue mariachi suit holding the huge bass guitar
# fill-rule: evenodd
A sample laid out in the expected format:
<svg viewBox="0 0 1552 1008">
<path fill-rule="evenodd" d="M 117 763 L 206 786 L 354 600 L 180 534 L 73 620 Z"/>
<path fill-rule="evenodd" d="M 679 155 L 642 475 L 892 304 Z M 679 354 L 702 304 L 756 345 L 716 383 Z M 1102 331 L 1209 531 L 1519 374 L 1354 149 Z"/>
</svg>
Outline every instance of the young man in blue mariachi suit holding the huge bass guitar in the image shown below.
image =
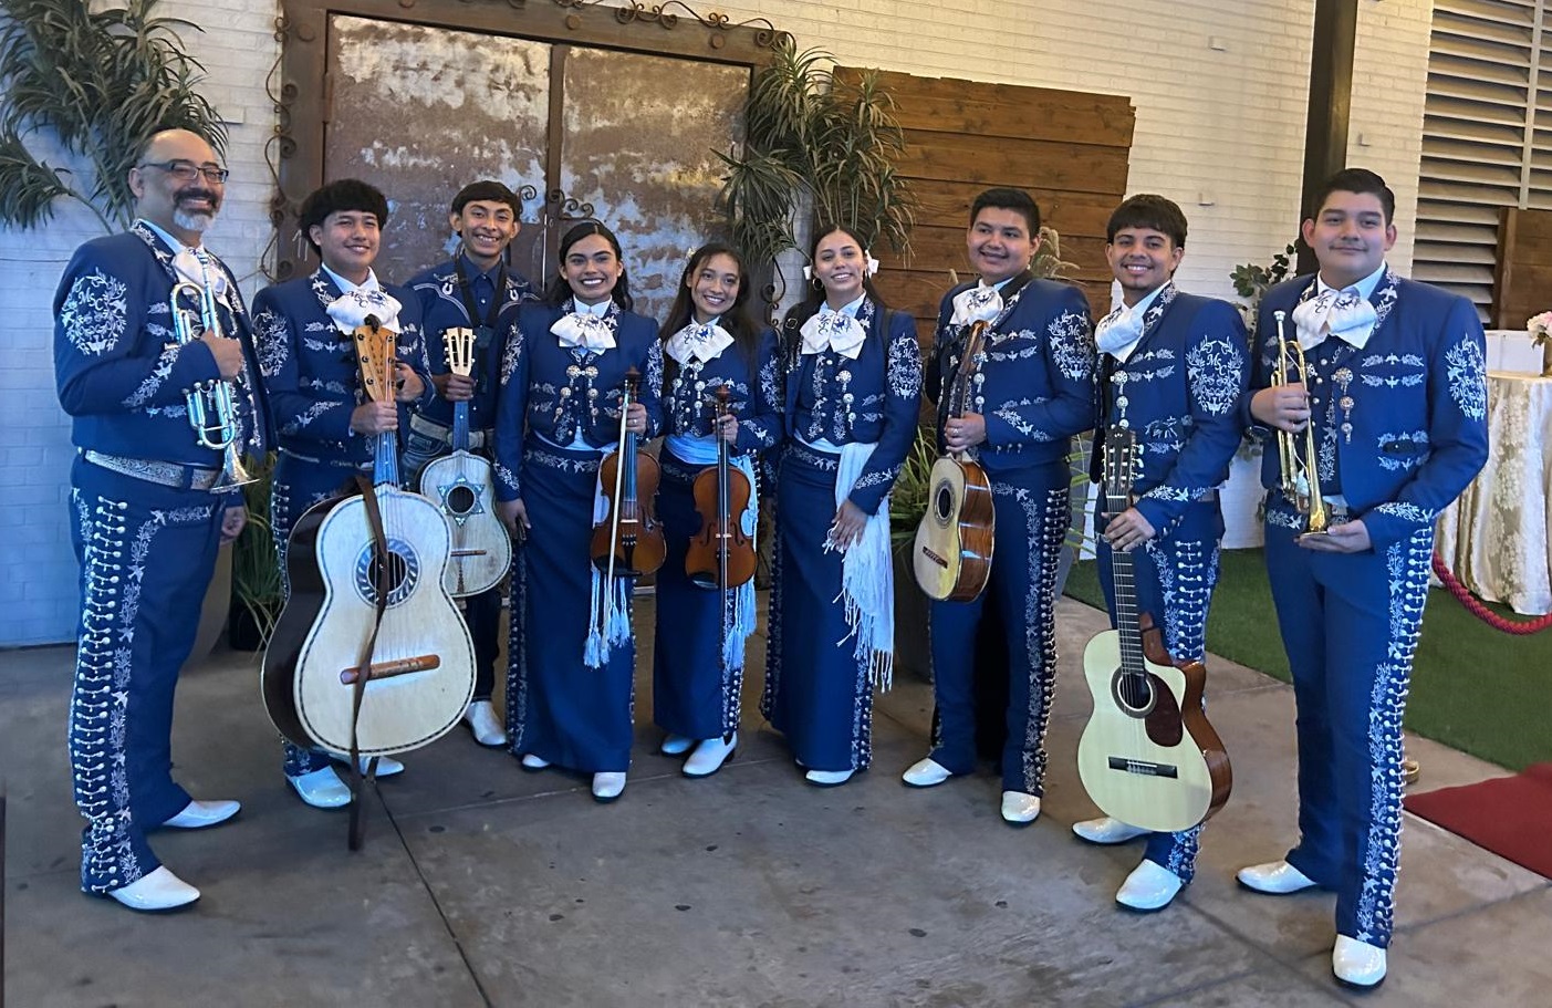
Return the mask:
<svg viewBox="0 0 1552 1008">
<path fill-rule="evenodd" d="M 357 474 L 371 475 L 376 435 L 400 430 L 404 404 L 433 395 L 421 303 L 379 283 L 372 261 L 388 224 L 388 200 L 357 179 L 340 179 L 303 200 L 298 227 L 321 264 L 310 276 L 265 287 L 253 301 L 264 385 L 275 405 L 279 458 L 270 495 L 270 528 L 281 570 L 290 531 L 312 505 L 340 492 Z M 399 334 L 397 405 L 365 396 L 351 334 L 368 315 Z M 351 789 L 334 756 L 286 741 L 286 780 L 314 808 L 349 805 Z M 365 763 L 365 758 L 363 758 Z M 377 777 L 404 772 L 391 756 Z"/>
</svg>

